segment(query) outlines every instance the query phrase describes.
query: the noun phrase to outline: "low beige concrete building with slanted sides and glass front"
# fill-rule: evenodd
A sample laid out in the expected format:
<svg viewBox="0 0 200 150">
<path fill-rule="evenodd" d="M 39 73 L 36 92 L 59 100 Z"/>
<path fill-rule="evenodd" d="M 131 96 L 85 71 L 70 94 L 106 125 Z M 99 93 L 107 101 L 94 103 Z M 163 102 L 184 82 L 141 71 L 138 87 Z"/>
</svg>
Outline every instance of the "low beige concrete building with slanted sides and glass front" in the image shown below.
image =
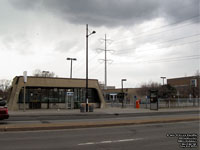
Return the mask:
<svg viewBox="0 0 200 150">
<path fill-rule="evenodd" d="M 85 79 L 28 77 L 24 84 L 23 77 L 13 79 L 8 108 L 26 109 L 79 109 L 85 103 Z M 24 93 L 25 86 L 25 93 Z M 88 89 L 89 103 L 96 108 L 105 106 L 98 80 L 90 79 Z"/>
</svg>

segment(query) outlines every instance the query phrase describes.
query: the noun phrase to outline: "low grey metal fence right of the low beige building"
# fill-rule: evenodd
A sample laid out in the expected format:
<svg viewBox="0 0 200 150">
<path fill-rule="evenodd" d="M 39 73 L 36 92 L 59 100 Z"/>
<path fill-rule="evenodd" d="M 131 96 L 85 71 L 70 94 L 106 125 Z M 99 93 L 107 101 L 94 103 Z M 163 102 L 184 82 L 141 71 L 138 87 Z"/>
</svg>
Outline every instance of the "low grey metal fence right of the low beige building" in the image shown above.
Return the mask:
<svg viewBox="0 0 200 150">
<path fill-rule="evenodd" d="M 108 107 L 124 107 L 135 108 L 136 100 L 124 101 L 122 104 L 119 101 L 107 103 Z M 159 108 L 179 108 L 179 107 L 200 107 L 200 98 L 176 98 L 176 99 L 158 99 Z M 150 108 L 150 99 L 141 99 L 140 108 Z"/>
</svg>

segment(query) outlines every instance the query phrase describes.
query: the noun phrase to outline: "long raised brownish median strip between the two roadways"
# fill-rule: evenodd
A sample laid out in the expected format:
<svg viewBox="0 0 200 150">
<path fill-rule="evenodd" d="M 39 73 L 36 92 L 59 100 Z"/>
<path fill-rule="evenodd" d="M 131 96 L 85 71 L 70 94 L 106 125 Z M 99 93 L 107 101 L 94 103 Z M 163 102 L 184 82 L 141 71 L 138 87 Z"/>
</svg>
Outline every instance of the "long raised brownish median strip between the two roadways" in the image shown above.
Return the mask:
<svg viewBox="0 0 200 150">
<path fill-rule="evenodd" d="M 37 130 L 56 130 L 56 129 L 78 129 L 78 128 L 94 128 L 109 126 L 124 126 L 152 123 L 171 123 L 183 121 L 197 121 L 199 117 L 187 118 L 157 118 L 145 120 L 114 120 L 114 121 L 96 121 L 96 122 L 71 122 L 71 123 L 45 123 L 45 124 L 18 124 L 18 125 L 2 125 L 0 132 L 8 131 L 37 131 Z"/>
</svg>

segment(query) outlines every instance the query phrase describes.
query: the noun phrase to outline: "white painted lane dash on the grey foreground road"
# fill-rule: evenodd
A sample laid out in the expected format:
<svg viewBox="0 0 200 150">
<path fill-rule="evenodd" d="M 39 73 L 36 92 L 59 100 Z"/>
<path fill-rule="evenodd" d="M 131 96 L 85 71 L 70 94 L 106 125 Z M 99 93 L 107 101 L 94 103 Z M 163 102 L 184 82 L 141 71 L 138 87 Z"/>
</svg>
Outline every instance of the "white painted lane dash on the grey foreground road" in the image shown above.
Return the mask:
<svg viewBox="0 0 200 150">
<path fill-rule="evenodd" d="M 135 138 L 135 139 L 122 139 L 122 140 L 114 140 L 114 141 L 101 141 L 101 142 L 87 142 L 87 143 L 80 143 L 80 145 L 95 145 L 95 144 L 109 144 L 109 143 L 119 143 L 119 142 L 130 142 L 130 141 L 138 141 L 142 140 L 143 138 Z"/>
</svg>

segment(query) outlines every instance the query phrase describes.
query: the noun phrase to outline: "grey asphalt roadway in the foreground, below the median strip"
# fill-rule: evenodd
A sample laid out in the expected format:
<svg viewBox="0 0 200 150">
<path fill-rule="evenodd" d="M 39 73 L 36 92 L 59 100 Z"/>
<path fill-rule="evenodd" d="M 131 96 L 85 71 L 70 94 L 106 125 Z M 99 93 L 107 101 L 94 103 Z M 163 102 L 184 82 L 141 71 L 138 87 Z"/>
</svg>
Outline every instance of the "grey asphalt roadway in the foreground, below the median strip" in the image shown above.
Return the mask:
<svg viewBox="0 0 200 150">
<path fill-rule="evenodd" d="M 199 122 L 179 122 L 89 129 L 1 132 L 1 150 L 178 150 L 177 137 L 199 133 Z M 185 148 L 184 150 L 187 150 Z M 192 150 L 197 150 L 193 148 Z"/>
</svg>

